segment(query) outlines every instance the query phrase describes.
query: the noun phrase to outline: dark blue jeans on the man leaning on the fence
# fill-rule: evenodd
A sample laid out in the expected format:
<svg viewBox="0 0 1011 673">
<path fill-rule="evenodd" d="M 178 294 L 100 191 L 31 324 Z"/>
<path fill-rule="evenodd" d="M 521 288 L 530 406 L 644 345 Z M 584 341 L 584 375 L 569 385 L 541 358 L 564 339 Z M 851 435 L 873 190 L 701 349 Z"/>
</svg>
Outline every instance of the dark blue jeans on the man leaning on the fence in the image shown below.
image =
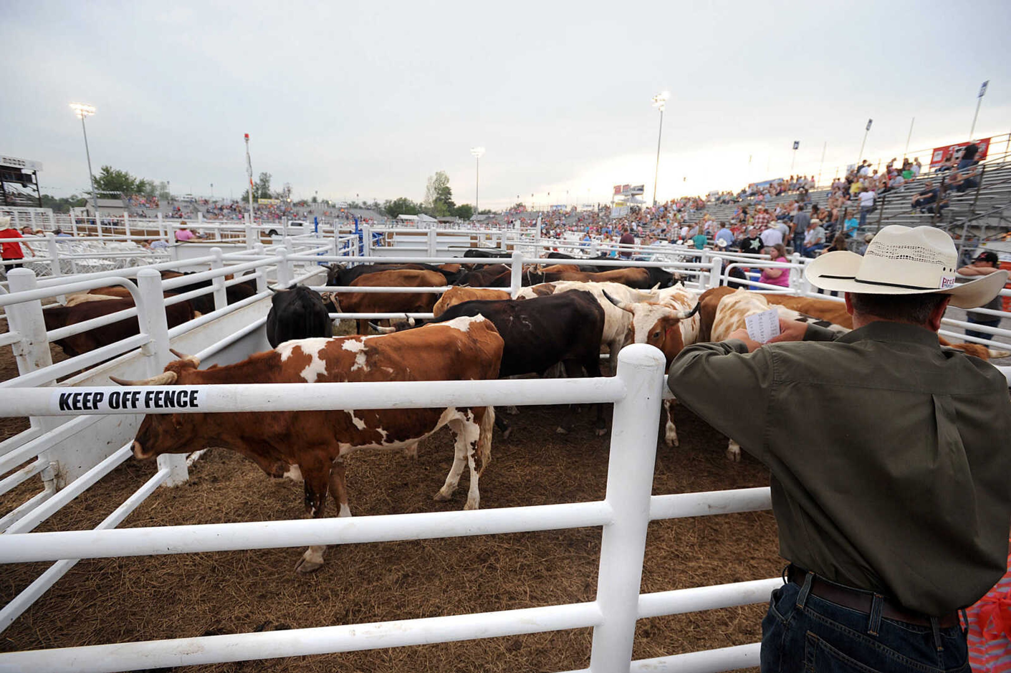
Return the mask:
<svg viewBox="0 0 1011 673">
<path fill-rule="evenodd" d="M 761 673 L 970 673 L 961 627 L 940 629 L 935 642 L 930 627 L 871 621 L 787 583 L 761 622 Z"/>
</svg>

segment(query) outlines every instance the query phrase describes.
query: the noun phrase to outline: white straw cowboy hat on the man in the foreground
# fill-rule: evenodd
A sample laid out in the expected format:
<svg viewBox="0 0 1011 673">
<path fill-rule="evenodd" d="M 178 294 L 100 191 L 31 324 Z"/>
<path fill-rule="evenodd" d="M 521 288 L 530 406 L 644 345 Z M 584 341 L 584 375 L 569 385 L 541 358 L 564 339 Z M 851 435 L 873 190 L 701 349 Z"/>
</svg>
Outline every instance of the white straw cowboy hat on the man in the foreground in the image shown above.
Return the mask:
<svg viewBox="0 0 1011 673">
<path fill-rule="evenodd" d="M 955 282 L 958 254 L 951 236 L 932 226 L 886 226 L 863 256 L 826 253 L 808 265 L 805 278 L 815 287 L 860 294 L 951 295 L 951 305 L 976 308 L 992 300 L 1007 282 L 995 271 L 968 283 Z"/>
</svg>

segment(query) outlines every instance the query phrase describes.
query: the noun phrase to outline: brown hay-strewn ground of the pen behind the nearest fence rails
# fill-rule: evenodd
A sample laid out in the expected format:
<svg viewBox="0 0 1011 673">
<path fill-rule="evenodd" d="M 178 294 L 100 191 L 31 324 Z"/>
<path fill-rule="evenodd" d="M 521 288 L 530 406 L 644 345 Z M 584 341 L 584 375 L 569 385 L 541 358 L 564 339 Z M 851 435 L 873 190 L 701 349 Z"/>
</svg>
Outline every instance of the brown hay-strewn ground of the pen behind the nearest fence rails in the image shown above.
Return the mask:
<svg viewBox="0 0 1011 673">
<path fill-rule="evenodd" d="M 602 498 L 608 438 L 592 432 L 593 412 L 557 436 L 559 407 L 525 407 L 511 417 L 481 479 L 481 504 L 508 507 Z M 610 414 L 609 414 L 610 416 Z M 748 458 L 730 464 L 726 440 L 683 407 L 679 449 L 660 446 L 654 493 L 763 486 L 767 473 Z M 450 435 L 424 442 L 419 459 L 398 453 L 349 460 L 357 515 L 460 508 L 434 502 L 452 462 Z M 88 528 L 154 473 L 132 459 L 77 498 L 39 531 Z M 466 481 L 466 477 L 464 477 Z M 298 518 L 301 486 L 270 480 L 223 450 L 208 452 L 189 482 L 160 488 L 124 526 Z M 336 513 L 332 502 L 329 514 Z M 313 575 L 292 569 L 301 549 L 85 560 L 4 634 L 4 651 L 133 640 L 321 627 L 592 600 L 600 530 L 352 545 L 331 548 Z M 770 512 L 656 521 L 650 525 L 643 591 L 773 577 L 775 523 Z M 47 564 L 8 566 L 4 602 Z M 764 607 L 711 610 L 639 622 L 635 657 L 649 658 L 756 642 Z M 588 664 L 590 631 L 535 634 L 479 642 L 251 661 L 177 669 L 233 671 L 515 671 L 570 670 Z"/>
</svg>

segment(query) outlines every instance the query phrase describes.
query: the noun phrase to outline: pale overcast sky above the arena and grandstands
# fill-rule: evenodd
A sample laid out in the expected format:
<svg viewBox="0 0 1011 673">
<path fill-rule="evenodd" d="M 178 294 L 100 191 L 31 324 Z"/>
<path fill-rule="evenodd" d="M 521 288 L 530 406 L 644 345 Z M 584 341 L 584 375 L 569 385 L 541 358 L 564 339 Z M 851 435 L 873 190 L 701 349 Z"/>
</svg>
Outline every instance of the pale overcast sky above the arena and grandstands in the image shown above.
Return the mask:
<svg viewBox="0 0 1011 673">
<path fill-rule="evenodd" d="M 707 5 L 707 6 L 702 6 Z M 301 3 L 0 0 L 0 154 L 42 191 L 111 165 L 175 194 L 238 197 L 253 169 L 296 197 L 458 203 L 660 198 L 824 175 L 863 156 L 1011 131 L 1011 3 Z M 751 157 L 750 165 L 748 163 Z M 548 193 L 550 192 L 550 197 Z"/>
</svg>

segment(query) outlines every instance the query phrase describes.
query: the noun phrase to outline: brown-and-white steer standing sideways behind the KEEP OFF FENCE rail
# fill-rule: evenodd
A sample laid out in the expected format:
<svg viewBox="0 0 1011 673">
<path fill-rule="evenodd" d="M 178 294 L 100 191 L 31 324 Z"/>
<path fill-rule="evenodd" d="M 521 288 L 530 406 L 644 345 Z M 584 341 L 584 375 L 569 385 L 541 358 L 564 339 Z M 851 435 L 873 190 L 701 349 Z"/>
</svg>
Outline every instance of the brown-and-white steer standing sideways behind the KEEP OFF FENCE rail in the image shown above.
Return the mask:
<svg viewBox="0 0 1011 673">
<path fill-rule="evenodd" d="M 204 385 L 494 379 L 502 346 L 494 325 L 477 315 L 387 335 L 285 342 L 244 362 L 203 371 L 197 369 L 200 363 L 195 358 L 184 357 L 169 363 L 154 379 L 113 380 L 132 385 Z M 360 449 L 401 450 L 449 425 L 456 436 L 456 453 L 435 499 L 448 500 L 469 466 L 465 508 L 476 509 L 478 477 L 491 459 L 494 415 L 491 406 L 149 414 L 137 430 L 133 455 L 145 459 L 223 447 L 250 458 L 272 477 L 301 479 L 309 516 L 323 516 L 328 491 L 339 507 L 338 515 L 351 516 L 345 457 Z M 325 550 L 325 546 L 310 547 L 295 570 L 319 568 Z"/>
</svg>

